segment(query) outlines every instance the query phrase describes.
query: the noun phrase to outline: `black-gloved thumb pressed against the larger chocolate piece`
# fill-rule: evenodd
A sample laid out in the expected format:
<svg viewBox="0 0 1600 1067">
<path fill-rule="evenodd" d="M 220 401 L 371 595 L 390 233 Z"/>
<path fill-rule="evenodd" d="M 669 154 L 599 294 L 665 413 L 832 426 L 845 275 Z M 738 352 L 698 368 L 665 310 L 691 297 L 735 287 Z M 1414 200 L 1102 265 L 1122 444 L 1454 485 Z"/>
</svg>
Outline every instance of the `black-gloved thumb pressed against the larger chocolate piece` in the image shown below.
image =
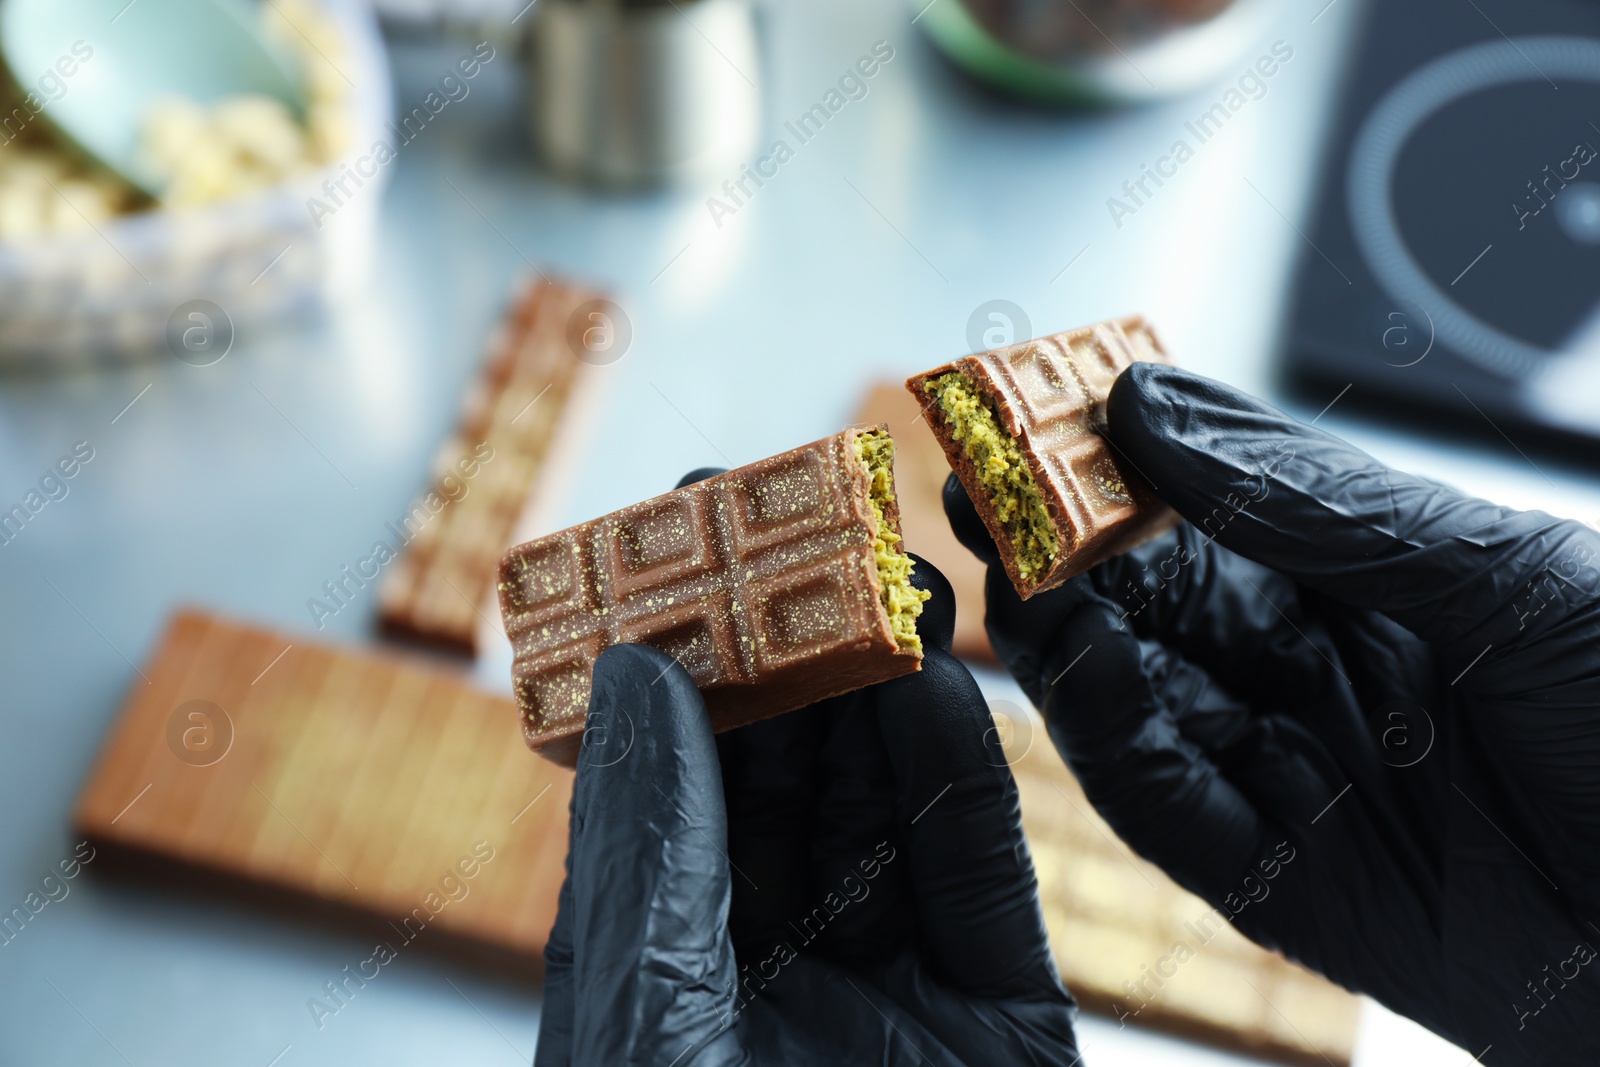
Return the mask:
<svg viewBox="0 0 1600 1067">
<path fill-rule="evenodd" d="M 571 1061 L 731 1062 L 726 817 L 706 704 L 666 653 L 616 645 L 595 661 L 579 755 L 565 904 Z M 627 744 L 630 742 L 630 744 Z"/>
</svg>

